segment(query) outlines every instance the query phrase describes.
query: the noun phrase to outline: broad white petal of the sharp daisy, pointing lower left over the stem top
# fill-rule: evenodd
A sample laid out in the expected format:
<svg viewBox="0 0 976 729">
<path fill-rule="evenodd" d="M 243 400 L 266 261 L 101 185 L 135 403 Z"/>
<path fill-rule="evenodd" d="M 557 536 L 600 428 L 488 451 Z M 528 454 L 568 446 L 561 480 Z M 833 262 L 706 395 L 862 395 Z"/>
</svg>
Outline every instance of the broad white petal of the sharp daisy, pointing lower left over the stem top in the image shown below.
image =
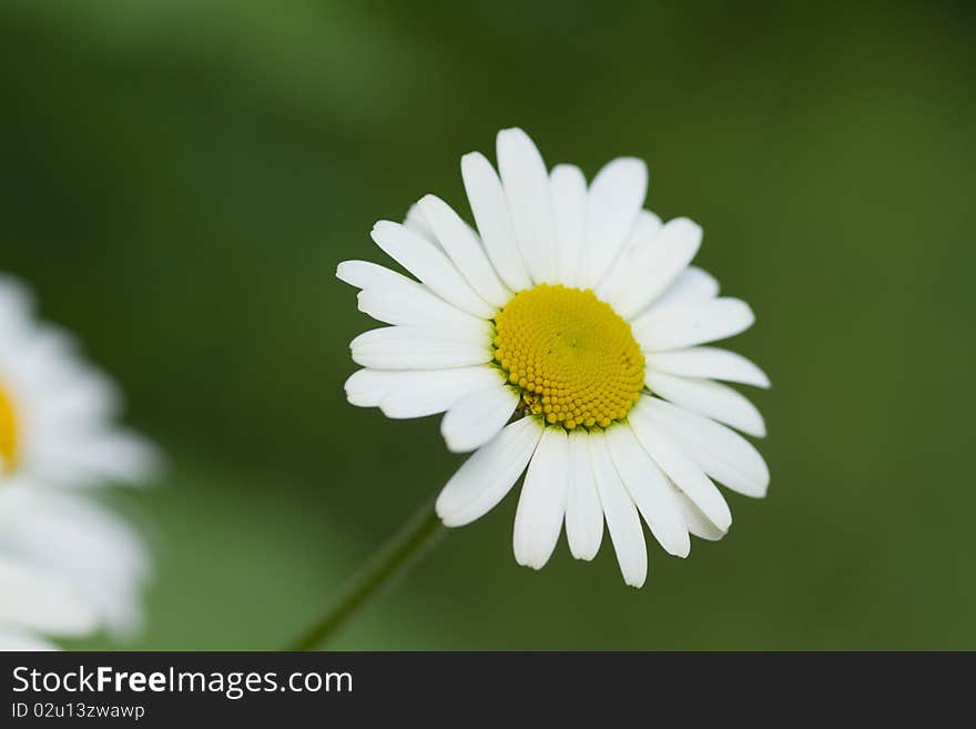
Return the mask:
<svg viewBox="0 0 976 729">
<path fill-rule="evenodd" d="M 490 512 L 521 476 L 541 437 L 539 421 L 523 417 L 475 452 L 437 497 L 445 525 L 464 526 Z"/>
</svg>

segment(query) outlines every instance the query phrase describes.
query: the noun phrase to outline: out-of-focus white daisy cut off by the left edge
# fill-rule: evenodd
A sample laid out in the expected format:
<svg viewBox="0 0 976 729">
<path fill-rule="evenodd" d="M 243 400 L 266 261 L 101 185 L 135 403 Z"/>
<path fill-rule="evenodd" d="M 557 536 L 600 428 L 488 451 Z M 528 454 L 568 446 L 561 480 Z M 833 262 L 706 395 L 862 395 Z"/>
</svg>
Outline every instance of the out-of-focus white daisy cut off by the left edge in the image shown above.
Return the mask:
<svg viewBox="0 0 976 729">
<path fill-rule="evenodd" d="M 29 293 L 0 276 L 0 649 L 116 636 L 141 622 L 149 557 L 85 487 L 146 479 L 157 460 L 113 423 L 119 394 Z"/>
</svg>

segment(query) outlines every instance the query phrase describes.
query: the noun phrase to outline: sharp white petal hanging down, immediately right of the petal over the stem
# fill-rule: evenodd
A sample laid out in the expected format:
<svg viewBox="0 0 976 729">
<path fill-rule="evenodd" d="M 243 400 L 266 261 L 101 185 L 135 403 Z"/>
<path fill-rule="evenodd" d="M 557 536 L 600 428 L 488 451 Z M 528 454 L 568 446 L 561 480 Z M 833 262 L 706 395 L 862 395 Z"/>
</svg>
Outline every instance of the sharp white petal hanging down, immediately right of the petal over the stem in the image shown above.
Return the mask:
<svg viewBox="0 0 976 729">
<path fill-rule="evenodd" d="M 526 472 L 526 483 L 515 515 L 515 560 L 541 569 L 552 556 L 562 517 L 569 479 L 569 446 L 566 431 L 547 427 Z"/>
</svg>

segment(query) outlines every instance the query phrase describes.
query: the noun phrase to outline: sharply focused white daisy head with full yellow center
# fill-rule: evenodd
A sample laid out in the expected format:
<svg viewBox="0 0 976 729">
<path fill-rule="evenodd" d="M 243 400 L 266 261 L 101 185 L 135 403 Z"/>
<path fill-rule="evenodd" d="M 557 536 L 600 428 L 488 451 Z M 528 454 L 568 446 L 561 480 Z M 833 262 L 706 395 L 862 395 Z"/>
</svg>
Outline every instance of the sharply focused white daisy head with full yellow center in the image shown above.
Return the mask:
<svg viewBox="0 0 976 729">
<path fill-rule="evenodd" d="M 711 342 L 753 323 L 690 266 L 695 223 L 643 210 L 644 163 L 617 159 L 587 185 L 576 166 L 551 172 L 520 129 L 499 132 L 498 172 L 461 159 L 477 231 L 427 195 L 404 224 L 373 240 L 415 279 L 363 261 L 337 275 L 362 291 L 359 311 L 392 324 L 352 342 L 364 368 L 353 405 L 392 418 L 445 413 L 454 452 L 475 452 L 441 490 L 447 526 L 484 516 L 525 484 L 515 557 L 541 568 L 562 525 L 572 555 L 592 559 L 603 523 L 627 584 L 648 557 L 641 517 L 665 551 L 689 534 L 719 539 L 732 515 L 714 482 L 765 495 L 759 411 L 715 381 L 767 387 L 749 360 Z M 731 426 L 731 427 L 730 427 Z"/>
</svg>

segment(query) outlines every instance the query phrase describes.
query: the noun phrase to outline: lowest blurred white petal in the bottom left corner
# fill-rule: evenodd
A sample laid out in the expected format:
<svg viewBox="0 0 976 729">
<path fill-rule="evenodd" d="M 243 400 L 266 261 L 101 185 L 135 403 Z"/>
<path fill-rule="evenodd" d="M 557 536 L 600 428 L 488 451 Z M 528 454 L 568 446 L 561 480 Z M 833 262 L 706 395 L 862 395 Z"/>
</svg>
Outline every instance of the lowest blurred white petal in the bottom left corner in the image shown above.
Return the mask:
<svg viewBox="0 0 976 729">
<path fill-rule="evenodd" d="M 91 604 L 65 581 L 0 557 L 0 625 L 60 636 L 83 636 L 98 628 Z"/>
</svg>

